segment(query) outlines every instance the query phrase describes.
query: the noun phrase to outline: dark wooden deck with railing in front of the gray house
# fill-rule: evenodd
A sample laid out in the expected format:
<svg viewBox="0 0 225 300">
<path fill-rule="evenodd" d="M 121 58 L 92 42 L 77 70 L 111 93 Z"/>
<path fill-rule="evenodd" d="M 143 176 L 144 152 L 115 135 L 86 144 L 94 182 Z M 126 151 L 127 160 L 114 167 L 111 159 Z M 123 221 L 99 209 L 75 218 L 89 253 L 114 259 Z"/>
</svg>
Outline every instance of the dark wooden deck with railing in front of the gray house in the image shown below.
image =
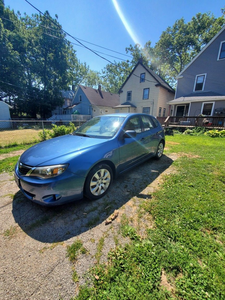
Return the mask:
<svg viewBox="0 0 225 300">
<path fill-rule="evenodd" d="M 190 117 L 156 117 L 164 127 L 187 127 L 204 126 L 207 129 L 224 129 L 225 116 L 190 116 Z"/>
</svg>

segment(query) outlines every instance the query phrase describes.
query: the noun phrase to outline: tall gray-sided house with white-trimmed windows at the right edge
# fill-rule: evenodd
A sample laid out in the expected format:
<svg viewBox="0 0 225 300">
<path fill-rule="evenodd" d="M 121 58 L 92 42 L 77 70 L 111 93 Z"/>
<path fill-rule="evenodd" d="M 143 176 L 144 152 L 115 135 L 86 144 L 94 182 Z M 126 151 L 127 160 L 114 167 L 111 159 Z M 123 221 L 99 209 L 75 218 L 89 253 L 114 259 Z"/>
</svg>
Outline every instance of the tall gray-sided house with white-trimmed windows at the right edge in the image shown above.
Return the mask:
<svg viewBox="0 0 225 300">
<path fill-rule="evenodd" d="M 170 116 L 225 116 L 225 26 L 176 78 Z"/>
</svg>

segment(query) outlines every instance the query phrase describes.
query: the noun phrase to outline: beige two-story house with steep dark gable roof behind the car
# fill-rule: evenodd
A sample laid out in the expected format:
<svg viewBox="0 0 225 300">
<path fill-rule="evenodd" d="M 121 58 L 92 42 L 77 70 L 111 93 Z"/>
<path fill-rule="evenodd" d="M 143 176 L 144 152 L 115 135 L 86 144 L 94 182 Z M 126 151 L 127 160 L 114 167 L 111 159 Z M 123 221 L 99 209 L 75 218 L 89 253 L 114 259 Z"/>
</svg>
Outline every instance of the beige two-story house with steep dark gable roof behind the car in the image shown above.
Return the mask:
<svg viewBox="0 0 225 300">
<path fill-rule="evenodd" d="M 169 104 L 175 90 L 158 74 L 143 65 L 142 58 L 119 89 L 120 104 L 115 113 L 147 113 L 170 116 Z"/>
</svg>

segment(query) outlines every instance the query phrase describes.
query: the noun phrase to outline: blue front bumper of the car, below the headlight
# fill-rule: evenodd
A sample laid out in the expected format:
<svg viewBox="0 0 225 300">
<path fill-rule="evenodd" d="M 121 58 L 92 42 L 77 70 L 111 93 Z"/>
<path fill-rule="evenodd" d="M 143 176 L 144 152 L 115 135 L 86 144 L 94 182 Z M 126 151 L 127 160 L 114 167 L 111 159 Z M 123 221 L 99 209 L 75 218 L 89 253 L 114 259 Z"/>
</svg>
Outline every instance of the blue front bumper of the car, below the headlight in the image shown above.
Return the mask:
<svg viewBox="0 0 225 300">
<path fill-rule="evenodd" d="M 15 166 L 15 176 L 21 192 L 33 202 L 54 206 L 83 198 L 85 178 L 65 170 L 49 179 L 21 176 Z"/>
</svg>

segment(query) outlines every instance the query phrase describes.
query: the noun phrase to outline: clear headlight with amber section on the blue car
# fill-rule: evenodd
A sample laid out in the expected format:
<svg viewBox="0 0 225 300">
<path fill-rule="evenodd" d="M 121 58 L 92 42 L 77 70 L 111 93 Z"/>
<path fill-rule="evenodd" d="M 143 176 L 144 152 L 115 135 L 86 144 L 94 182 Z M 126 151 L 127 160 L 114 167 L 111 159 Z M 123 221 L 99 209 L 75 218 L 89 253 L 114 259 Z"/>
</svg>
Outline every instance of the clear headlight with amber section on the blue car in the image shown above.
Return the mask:
<svg viewBox="0 0 225 300">
<path fill-rule="evenodd" d="M 68 165 L 69 164 L 32 168 L 29 176 L 36 176 L 43 179 L 52 178 L 62 174 Z"/>
</svg>

